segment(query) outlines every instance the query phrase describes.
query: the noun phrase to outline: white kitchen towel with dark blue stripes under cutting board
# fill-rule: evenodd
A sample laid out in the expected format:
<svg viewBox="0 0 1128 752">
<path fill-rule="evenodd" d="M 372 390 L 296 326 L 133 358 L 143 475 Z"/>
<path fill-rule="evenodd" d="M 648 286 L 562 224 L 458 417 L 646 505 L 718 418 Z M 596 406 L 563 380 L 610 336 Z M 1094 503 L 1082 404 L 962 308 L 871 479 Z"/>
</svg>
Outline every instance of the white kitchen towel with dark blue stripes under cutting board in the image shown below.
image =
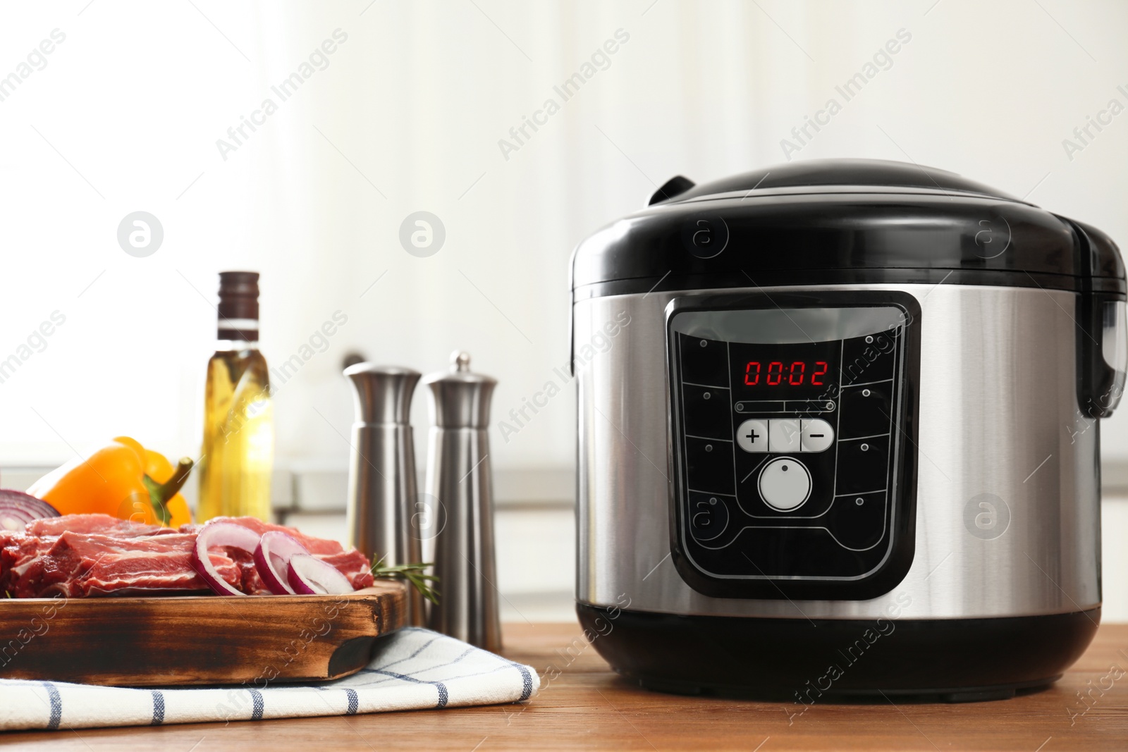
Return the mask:
<svg viewBox="0 0 1128 752">
<path fill-rule="evenodd" d="M 537 672 L 429 629 L 384 638 L 368 667 L 334 681 L 209 689 L 126 689 L 0 680 L 0 731 L 159 726 L 214 720 L 495 705 L 529 699 Z"/>
</svg>

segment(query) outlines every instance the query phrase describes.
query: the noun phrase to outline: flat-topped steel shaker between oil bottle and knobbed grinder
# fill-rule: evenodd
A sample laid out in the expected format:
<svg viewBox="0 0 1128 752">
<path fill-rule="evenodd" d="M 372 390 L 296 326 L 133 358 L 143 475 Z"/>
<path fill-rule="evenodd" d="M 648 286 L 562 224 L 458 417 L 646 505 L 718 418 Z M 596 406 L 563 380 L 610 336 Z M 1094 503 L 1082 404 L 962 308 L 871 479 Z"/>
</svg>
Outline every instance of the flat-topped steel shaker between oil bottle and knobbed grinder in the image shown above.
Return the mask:
<svg viewBox="0 0 1128 752">
<path fill-rule="evenodd" d="M 349 465 L 349 542 L 372 559 L 394 566 L 423 560 L 413 534 L 416 503 L 415 445 L 409 423 L 420 373 L 411 369 L 358 363 L 345 369 L 353 386 Z M 407 623 L 425 623 L 423 596 L 407 589 Z"/>
</svg>

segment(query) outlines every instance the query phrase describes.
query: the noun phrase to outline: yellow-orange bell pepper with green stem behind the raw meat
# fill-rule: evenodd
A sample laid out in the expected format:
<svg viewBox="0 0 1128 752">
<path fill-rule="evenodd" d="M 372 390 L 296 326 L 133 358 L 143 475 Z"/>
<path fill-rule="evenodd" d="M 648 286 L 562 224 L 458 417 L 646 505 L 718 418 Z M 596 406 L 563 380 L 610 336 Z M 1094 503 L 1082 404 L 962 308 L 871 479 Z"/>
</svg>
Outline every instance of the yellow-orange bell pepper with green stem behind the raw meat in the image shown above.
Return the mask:
<svg viewBox="0 0 1128 752">
<path fill-rule="evenodd" d="M 117 436 L 86 459 L 52 470 L 27 493 L 60 514 L 102 513 L 176 528 L 192 522 L 188 504 L 178 493 L 192 465 L 184 458 L 174 468 L 162 454 L 129 436 Z"/>
</svg>

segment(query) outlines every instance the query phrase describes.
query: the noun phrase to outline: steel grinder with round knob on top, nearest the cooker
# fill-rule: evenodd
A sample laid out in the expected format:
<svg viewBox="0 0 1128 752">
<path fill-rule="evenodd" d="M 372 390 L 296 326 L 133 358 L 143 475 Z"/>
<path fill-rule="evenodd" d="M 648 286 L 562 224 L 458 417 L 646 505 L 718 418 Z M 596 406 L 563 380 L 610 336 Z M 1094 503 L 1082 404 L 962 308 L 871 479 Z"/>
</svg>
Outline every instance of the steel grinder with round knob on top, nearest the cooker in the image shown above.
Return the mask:
<svg viewBox="0 0 1128 752">
<path fill-rule="evenodd" d="M 449 371 L 423 379 L 431 392 L 426 493 L 437 505 L 434 574 L 439 604 L 429 626 L 487 651 L 501 649 L 494 558 L 490 399 L 495 379 L 473 373 L 455 352 Z"/>
</svg>

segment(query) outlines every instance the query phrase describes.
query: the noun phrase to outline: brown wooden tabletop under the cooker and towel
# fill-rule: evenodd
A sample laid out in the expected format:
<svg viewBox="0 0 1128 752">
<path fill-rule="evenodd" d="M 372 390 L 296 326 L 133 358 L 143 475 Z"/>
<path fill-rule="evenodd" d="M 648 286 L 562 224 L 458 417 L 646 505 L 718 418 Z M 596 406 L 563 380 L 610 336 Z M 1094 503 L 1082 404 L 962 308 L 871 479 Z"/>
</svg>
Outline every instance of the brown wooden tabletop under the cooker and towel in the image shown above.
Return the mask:
<svg viewBox="0 0 1128 752">
<path fill-rule="evenodd" d="M 230 725 L 0 734 L 5 750 L 1128 750 L 1128 625 L 1101 627 L 1052 688 L 997 702 L 816 705 L 685 698 L 631 687 L 571 625 L 508 625 L 505 654 L 541 672 L 525 705 Z M 990 645 L 984 645 L 985 651 Z M 549 666 L 562 669 L 547 681 Z M 1110 667 L 1114 666 L 1111 675 Z M 1107 679 L 1102 679 L 1109 676 Z M 1117 679 L 1116 676 L 1119 676 Z M 1087 704 L 1077 692 L 1093 690 Z"/>
</svg>

